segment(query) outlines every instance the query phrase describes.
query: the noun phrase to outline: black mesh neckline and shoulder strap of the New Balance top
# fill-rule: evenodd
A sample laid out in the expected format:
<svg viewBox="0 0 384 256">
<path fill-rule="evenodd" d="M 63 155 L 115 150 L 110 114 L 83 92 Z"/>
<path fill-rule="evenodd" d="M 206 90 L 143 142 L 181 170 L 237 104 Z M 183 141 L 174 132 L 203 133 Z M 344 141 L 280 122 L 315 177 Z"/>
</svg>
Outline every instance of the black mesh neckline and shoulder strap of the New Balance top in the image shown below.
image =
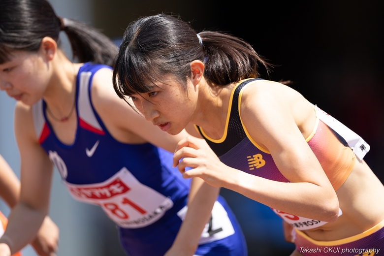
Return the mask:
<svg viewBox="0 0 384 256">
<path fill-rule="evenodd" d="M 262 80 L 261 78 L 253 78 L 248 79 L 241 84 L 239 84 L 234 90 L 232 102 L 229 102 L 231 104 L 231 110 L 229 114 L 229 121 L 228 121 L 228 127 L 226 132 L 226 138 L 224 141 L 220 143 L 215 143 L 208 138 L 206 138 L 201 130 L 200 127 L 196 126 L 198 132 L 201 134 L 201 136 L 207 141 L 208 145 L 211 147 L 211 149 L 216 153 L 218 157 L 224 155 L 226 152 L 228 152 L 231 148 L 235 147 L 238 143 L 240 143 L 245 137 L 247 137 L 247 134 L 245 133 L 243 126 L 241 125 L 240 120 L 240 113 L 239 113 L 239 95 L 241 89 L 256 80 Z"/>
</svg>

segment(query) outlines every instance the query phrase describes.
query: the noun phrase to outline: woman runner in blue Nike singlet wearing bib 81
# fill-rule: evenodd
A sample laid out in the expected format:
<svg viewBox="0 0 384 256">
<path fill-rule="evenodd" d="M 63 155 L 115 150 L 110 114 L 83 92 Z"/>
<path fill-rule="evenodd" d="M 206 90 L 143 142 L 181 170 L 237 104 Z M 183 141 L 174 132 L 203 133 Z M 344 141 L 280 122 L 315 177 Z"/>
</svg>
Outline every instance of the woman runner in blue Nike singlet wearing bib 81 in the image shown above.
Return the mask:
<svg viewBox="0 0 384 256">
<path fill-rule="evenodd" d="M 75 199 L 100 205 L 119 225 L 130 256 L 170 248 L 167 255 L 246 255 L 218 189 L 201 179 L 191 185 L 157 147 L 174 152 L 185 134 L 161 132 L 113 91 L 108 65 L 117 48 L 107 37 L 58 18 L 46 0 L 0 0 L 0 28 L 0 89 L 18 101 L 22 177 L 1 256 L 26 245 L 47 214 L 52 162 Z M 58 48 L 60 31 L 80 64 Z"/>
</svg>

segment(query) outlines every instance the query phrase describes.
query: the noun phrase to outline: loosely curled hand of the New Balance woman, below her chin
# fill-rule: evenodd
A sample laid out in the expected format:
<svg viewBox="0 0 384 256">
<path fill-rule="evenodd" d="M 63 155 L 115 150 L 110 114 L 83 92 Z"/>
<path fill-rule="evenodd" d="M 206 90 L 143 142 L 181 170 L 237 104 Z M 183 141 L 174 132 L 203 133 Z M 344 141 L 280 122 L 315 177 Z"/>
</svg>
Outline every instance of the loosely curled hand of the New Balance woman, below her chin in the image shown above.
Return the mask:
<svg viewBox="0 0 384 256">
<path fill-rule="evenodd" d="M 224 178 L 229 178 L 230 169 L 209 148 L 203 139 L 188 136 L 176 147 L 173 166 L 177 166 L 184 178 L 199 177 L 213 187 L 224 187 Z M 186 171 L 186 167 L 191 170 Z"/>
</svg>

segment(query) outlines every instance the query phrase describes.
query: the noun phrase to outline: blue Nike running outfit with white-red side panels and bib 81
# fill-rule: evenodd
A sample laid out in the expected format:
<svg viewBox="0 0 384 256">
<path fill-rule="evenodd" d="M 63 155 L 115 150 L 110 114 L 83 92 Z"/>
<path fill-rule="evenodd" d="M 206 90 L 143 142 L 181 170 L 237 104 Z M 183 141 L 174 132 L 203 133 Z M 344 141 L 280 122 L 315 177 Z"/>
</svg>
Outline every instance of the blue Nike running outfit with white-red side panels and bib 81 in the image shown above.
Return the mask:
<svg viewBox="0 0 384 256">
<path fill-rule="evenodd" d="M 91 100 L 92 79 L 100 68 L 110 67 L 87 63 L 77 75 L 78 122 L 72 145 L 63 144 L 54 134 L 43 100 L 32 106 L 34 128 L 72 197 L 104 210 L 119 226 L 126 252 L 162 256 L 185 216 L 190 180 L 171 167 L 171 153 L 150 143 L 121 143 L 111 136 Z M 220 196 L 195 254 L 247 255 L 242 232 Z"/>
</svg>

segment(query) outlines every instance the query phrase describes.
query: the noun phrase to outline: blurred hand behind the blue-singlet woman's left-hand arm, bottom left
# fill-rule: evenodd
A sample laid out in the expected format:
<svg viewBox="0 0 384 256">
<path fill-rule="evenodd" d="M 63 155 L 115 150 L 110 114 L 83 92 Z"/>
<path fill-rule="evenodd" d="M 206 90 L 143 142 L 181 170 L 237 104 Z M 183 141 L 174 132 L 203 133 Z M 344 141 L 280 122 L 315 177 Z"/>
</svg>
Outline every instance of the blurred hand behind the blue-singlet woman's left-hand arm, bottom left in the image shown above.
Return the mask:
<svg viewBox="0 0 384 256">
<path fill-rule="evenodd" d="M 31 245 L 39 256 L 56 256 L 58 243 L 59 228 L 46 216 Z"/>
</svg>

